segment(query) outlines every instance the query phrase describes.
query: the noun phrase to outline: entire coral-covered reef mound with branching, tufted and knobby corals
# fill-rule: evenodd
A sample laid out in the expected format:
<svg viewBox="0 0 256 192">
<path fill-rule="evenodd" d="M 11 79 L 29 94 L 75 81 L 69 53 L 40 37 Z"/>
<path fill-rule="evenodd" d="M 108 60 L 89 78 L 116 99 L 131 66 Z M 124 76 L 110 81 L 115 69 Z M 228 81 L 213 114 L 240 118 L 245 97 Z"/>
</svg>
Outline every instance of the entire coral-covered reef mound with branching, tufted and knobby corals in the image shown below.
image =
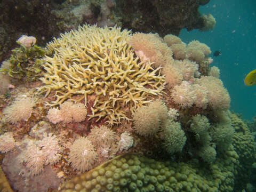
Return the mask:
<svg viewBox="0 0 256 192">
<path fill-rule="evenodd" d="M 29 38 L 14 52 L 19 57 L 1 67 L 28 82 L 14 86 L 3 76 L 1 84 L 12 87 L 1 103 L 0 151 L 13 190 L 194 192 L 246 185 L 253 138 L 228 110 L 230 97 L 219 69 L 210 67 L 207 45 L 116 26 L 81 26 L 45 50 Z M 13 67 L 30 52 L 39 60 Z M 12 191 L 0 171 L 0 189 Z"/>
</svg>

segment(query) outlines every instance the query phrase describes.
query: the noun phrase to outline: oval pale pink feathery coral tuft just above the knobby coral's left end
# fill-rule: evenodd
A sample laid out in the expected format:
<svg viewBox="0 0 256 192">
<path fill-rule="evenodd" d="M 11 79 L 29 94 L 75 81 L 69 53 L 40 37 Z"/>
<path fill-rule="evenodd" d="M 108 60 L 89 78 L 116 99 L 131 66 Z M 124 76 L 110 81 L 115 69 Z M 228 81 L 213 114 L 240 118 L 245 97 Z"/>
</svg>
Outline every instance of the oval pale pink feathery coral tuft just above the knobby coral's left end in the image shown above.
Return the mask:
<svg viewBox="0 0 256 192">
<path fill-rule="evenodd" d="M 81 137 L 69 149 L 68 162 L 73 169 L 85 172 L 93 168 L 98 154 L 89 139 Z"/>
</svg>

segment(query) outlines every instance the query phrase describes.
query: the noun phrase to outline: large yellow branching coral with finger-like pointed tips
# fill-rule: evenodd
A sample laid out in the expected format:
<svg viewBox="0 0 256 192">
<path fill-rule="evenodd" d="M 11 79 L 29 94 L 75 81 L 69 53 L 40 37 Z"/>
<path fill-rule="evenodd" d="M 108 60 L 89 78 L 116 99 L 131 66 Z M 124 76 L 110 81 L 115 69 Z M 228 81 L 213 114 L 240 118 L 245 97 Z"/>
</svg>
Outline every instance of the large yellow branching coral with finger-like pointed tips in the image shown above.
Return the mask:
<svg viewBox="0 0 256 192">
<path fill-rule="evenodd" d="M 106 117 L 108 123 L 129 119 L 127 110 L 133 111 L 147 103 L 149 95 L 161 95 L 165 78 L 153 63 L 139 61 L 126 42 L 130 31 L 118 27 L 98 28 L 84 25 L 78 30 L 62 34 L 47 45 L 52 57 L 45 57 L 46 73 L 41 78 L 45 84 L 39 93 L 48 95 L 55 90 L 55 101 L 60 105 L 74 94 L 85 99 L 95 95 L 90 118 L 97 121 Z"/>
</svg>

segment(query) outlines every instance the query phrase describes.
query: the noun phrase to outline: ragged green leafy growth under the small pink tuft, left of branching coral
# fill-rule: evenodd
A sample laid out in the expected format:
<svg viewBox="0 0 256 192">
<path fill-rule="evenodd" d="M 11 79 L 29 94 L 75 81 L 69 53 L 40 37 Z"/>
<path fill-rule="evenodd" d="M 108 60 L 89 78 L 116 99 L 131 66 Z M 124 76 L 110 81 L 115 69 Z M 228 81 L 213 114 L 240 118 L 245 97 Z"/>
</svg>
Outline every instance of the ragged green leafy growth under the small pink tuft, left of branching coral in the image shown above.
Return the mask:
<svg viewBox="0 0 256 192">
<path fill-rule="evenodd" d="M 15 79 L 22 81 L 35 81 L 42 72 L 45 50 L 42 47 L 33 45 L 25 47 L 20 44 L 20 47 L 13 49 L 12 54 L 6 62 L 8 66 L 1 68 L 1 72 L 8 74 Z"/>
</svg>

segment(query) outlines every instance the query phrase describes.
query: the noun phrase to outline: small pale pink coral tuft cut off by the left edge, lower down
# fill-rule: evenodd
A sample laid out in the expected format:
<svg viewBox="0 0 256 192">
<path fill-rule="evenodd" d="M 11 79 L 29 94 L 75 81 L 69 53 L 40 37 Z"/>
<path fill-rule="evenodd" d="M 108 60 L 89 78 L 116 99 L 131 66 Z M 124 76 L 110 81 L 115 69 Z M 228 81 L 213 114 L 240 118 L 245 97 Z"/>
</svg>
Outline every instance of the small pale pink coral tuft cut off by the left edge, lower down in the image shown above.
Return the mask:
<svg viewBox="0 0 256 192">
<path fill-rule="evenodd" d="M 12 132 L 6 132 L 0 136 L 0 152 L 6 153 L 15 147 Z"/>
</svg>

